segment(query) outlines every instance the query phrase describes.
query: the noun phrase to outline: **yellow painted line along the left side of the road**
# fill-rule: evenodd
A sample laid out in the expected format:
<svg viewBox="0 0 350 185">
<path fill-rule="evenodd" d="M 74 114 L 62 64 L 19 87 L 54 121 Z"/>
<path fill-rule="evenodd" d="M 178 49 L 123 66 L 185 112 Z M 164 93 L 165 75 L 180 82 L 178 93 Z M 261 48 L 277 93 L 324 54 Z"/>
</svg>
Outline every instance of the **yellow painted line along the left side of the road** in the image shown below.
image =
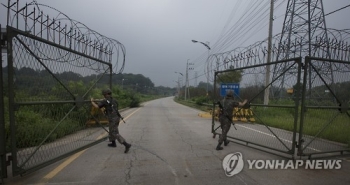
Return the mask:
<svg viewBox="0 0 350 185">
<path fill-rule="evenodd" d="M 140 107 L 141 108 L 141 107 Z M 129 114 L 128 116 L 125 117 L 125 120 L 127 120 L 131 115 L 133 115 L 134 113 L 136 113 L 137 111 L 140 110 L 140 108 L 136 109 L 134 112 L 132 112 L 131 114 Z M 100 136 L 98 136 L 96 138 L 96 140 L 101 139 L 102 137 L 104 137 L 105 135 L 107 135 L 107 133 L 103 133 Z M 72 163 L 75 159 L 77 159 L 81 154 L 83 154 L 85 150 L 82 150 L 72 156 L 70 156 L 67 160 L 65 160 L 62 164 L 60 164 L 59 166 L 57 166 L 54 170 L 52 170 L 50 173 L 48 173 L 47 175 L 45 175 L 42 180 L 40 181 L 40 183 L 38 183 L 38 185 L 44 185 L 46 184 L 50 179 L 52 179 L 53 177 L 55 177 L 60 171 L 62 171 L 65 167 L 67 167 L 70 163 Z"/>
</svg>

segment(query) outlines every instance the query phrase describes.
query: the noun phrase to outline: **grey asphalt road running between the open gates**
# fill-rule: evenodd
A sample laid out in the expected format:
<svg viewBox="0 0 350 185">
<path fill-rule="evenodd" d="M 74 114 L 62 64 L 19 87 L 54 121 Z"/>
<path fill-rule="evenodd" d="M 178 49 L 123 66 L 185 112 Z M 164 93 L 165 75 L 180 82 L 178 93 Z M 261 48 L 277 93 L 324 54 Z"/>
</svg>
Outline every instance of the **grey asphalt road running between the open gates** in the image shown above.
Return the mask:
<svg viewBox="0 0 350 185">
<path fill-rule="evenodd" d="M 284 159 L 235 143 L 216 151 L 211 120 L 198 113 L 172 97 L 148 102 L 122 113 L 126 124 L 119 129 L 132 144 L 129 153 L 120 144 L 107 147 L 106 141 L 5 184 L 350 184 L 349 158 L 336 159 L 340 169 L 259 169 L 264 161 Z M 237 152 L 244 167 L 227 176 L 223 160 Z M 248 160 L 260 163 L 250 169 Z"/>
</svg>

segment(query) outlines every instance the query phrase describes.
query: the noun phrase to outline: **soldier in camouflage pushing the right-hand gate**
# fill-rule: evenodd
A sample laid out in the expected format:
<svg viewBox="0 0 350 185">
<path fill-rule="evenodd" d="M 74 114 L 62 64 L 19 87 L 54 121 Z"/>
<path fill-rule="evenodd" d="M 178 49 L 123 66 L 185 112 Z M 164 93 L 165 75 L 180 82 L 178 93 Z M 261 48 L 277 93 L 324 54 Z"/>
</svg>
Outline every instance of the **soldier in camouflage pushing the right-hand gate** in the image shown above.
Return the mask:
<svg viewBox="0 0 350 185">
<path fill-rule="evenodd" d="M 234 101 L 233 91 L 230 90 L 226 93 L 226 97 L 220 101 L 223 106 L 222 111 L 219 115 L 219 121 L 222 129 L 222 133 L 219 137 L 219 143 L 216 146 L 216 150 L 224 149 L 221 145 L 224 143 L 225 146 L 228 145 L 229 141 L 227 140 L 227 133 L 231 128 L 232 118 L 233 118 L 233 109 L 235 107 L 242 107 L 247 103 L 245 99 L 243 102 Z"/>
</svg>

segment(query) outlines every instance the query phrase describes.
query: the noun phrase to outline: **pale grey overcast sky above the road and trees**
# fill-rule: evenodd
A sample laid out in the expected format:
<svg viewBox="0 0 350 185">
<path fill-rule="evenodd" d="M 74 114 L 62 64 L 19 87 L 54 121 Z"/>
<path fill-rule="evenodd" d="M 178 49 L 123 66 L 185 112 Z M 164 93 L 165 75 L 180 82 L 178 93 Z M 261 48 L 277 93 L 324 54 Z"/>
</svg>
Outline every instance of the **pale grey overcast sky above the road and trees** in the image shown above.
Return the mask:
<svg viewBox="0 0 350 185">
<path fill-rule="evenodd" d="M 22 2 L 22 0 L 21 0 Z M 24 1 L 23 1 L 24 2 Z M 27 1 L 31 2 L 31 1 Z M 190 70 L 190 85 L 206 81 L 204 74 L 207 43 L 210 54 L 245 47 L 268 35 L 270 0 L 37 0 L 77 20 L 102 35 L 121 42 L 126 48 L 123 73 L 142 74 L 155 86 L 175 87 L 179 75 Z M 275 1 L 274 35 L 282 31 L 286 2 Z M 1 0 L 7 4 L 7 0 Z M 349 5 L 349 0 L 324 0 L 325 14 Z M 276 7 L 278 6 L 278 7 Z M 44 12 L 50 14 L 50 12 Z M 53 15 L 54 16 L 54 15 Z M 0 23 L 6 25 L 6 9 L 1 5 Z M 258 19 L 260 18 L 260 19 Z M 327 16 L 327 27 L 350 28 L 350 8 Z M 242 21 L 247 24 L 238 24 Z M 249 27 L 249 20 L 253 22 Z M 243 22 L 244 22 L 243 21 Z M 248 30 L 232 32 L 237 27 Z M 231 30 L 235 34 L 227 34 Z M 237 37 L 223 46 L 220 39 Z M 195 80 L 195 72 L 199 78 Z"/>
</svg>

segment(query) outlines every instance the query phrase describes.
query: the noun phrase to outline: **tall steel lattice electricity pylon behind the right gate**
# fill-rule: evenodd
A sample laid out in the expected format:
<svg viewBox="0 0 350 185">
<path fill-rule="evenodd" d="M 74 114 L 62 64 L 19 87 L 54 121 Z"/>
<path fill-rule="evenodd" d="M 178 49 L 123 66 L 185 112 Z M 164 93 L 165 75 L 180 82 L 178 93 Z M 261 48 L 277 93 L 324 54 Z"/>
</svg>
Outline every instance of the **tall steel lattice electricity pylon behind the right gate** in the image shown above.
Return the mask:
<svg viewBox="0 0 350 185">
<path fill-rule="evenodd" d="M 312 57 L 319 51 L 320 43 L 329 46 L 322 0 L 288 0 L 276 61 L 295 57 Z M 327 46 L 323 48 L 329 48 Z M 329 49 L 323 52 L 325 53 L 324 58 L 330 58 Z M 281 74 L 285 67 L 286 64 L 276 65 L 274 75 Z M 311 74 L 311 66 L 309 67 L 308 85 L 311 89 L 313 74 Z M 330 72 L 333 84 L 331 63 L 323 63 L 322 66 L 318 66 L 318 69 L 321 72 Z M 284 89 L 284 84 L 285 75 L 282 76 L 281 90 Z"/>
</svg>

